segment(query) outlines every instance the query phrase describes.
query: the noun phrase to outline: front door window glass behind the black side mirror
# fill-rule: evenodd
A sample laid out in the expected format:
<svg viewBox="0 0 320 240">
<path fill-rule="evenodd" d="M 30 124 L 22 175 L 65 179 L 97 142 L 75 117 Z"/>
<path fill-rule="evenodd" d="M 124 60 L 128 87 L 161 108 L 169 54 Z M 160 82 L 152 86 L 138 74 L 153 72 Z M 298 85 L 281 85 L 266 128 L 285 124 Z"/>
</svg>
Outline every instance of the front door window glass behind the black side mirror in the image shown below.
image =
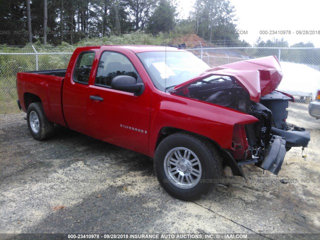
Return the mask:
<svg viewBox="0 0 320 240">
<path fill-rule="evenodd" d="M 99 61 L 95 85 L 111 87 L 111 80 L 118 75 L 128 75 L 137 79 L 138 74 L 129 59 L 121 53 L 104 51 Z"/>
</svg>

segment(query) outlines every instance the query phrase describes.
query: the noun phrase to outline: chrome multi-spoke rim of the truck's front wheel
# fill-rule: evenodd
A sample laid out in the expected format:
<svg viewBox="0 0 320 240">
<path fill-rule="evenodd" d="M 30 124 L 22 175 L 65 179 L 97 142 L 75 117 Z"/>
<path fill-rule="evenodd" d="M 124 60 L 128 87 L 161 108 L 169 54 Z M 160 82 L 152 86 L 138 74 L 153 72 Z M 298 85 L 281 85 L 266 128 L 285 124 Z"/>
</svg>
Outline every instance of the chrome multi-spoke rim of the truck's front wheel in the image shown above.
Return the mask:
<svg viewBox="0 0 320 240">
<path fill-rule="evenodd" d="M 165 155 L 163 165 L 169 182 L 179 188 L 191 188 L 201 178 L 201 163 L 195 153 L 188 148 L 172 148 Z"/>
</svg>

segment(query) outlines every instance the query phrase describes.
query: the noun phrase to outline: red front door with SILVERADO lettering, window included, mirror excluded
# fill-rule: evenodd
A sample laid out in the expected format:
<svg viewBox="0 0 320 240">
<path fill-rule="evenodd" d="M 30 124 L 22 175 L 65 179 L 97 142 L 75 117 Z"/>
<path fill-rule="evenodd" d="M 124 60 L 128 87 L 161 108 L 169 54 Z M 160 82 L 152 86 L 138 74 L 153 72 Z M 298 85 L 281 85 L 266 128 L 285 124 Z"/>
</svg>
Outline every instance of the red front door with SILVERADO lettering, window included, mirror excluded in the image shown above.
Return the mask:
<svg viewBox="0 0 320 240">
<path fill-rule="evenodd" d="M 91 136 L 147 153 L 152 91 L 141 78 L 140 63 L 138 67 L 133 64 L 137 57 L 130 54 L 131 58 L 113 50 L 101 52 L 94 82 L 88 87 L 87 120 Z M 143 83 L 142 94 L 112 89 L 111 80 L 118 75 L 132 76 Z"/>
</svg>

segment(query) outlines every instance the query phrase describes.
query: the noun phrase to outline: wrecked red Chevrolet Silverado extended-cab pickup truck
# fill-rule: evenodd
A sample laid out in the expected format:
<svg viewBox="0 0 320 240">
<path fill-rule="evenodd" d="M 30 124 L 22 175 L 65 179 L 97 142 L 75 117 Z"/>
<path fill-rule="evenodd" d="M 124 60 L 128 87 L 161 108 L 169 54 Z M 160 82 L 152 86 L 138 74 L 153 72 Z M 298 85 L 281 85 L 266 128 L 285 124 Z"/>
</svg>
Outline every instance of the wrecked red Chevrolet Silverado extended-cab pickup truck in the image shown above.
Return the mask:
<svg viewBox="0 0 320 240">
<path fill-rule="evenodd" d="M 18 72 L 17 103 L 35 139 L 55 123 L 140 152 L 169 194 L 191 200 L 224 166 L 277 174 L 286 149 L 306 146 L 308 132 L 287 131 L 281 78 L 275 56 L 210 68 L 174 47 L 86 46 L 66 69 Z"/>
</svg>

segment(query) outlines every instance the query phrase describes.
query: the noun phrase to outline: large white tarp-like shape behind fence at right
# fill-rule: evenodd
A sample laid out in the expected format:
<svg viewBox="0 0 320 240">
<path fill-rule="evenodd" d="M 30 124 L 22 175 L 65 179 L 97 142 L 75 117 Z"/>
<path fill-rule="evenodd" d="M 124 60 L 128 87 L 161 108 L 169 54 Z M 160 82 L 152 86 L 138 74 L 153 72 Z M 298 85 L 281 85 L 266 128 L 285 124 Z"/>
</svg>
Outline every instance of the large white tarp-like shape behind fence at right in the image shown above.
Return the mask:
<svg viewBox="0 0 320 240">
<path fill-rule="evenodd" d="M 278 90 L 292 95 L 309 95 L 312 99 L 320 88 L 320 71 L 304 64 L 280 61 L 283 78 L 277 87 Z"/>
</svg>

